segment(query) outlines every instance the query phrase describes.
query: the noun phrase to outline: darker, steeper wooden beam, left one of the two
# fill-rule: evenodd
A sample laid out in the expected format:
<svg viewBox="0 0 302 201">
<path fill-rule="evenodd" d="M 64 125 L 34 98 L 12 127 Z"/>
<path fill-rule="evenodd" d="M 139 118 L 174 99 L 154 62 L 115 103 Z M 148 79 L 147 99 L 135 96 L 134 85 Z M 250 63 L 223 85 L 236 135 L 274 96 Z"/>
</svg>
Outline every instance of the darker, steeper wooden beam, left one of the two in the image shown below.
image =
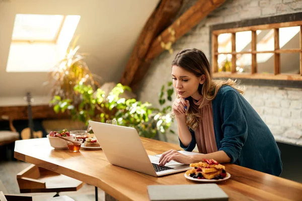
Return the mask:
<svg viewBox="0 0 302 201">
<path fill-rule="evenodd" d="M 122 74 L 120 83 L 123 85 L 130 85 L 137 68 L 144 60 L 150 45 L 166 27 L 171 25 L 173 18 L 181 8 L 182 2 L 182 0 L 162 0 L 160 2 L 140 33 Z"/>
</svg>

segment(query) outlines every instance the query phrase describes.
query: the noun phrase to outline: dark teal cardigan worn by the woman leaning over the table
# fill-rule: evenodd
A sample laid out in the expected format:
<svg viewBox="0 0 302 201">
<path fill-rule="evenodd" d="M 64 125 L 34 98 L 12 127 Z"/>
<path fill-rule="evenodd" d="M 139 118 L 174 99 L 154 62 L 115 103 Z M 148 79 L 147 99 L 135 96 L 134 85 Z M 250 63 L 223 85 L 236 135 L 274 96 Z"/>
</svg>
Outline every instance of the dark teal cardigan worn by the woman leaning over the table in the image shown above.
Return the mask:
<svg viewBox="0 0 302 201">
<path fill-rule="evenodd" d="M 218 151 L 223 150 L 231 163 L 279 176 L 282 171 L 280 150 L 276 141 L 247 100 L 233 87 L 222 86 L 212 100 L 213 124 Z M 192 151 L 192 141 L 185 147 Z"/>
</svg>

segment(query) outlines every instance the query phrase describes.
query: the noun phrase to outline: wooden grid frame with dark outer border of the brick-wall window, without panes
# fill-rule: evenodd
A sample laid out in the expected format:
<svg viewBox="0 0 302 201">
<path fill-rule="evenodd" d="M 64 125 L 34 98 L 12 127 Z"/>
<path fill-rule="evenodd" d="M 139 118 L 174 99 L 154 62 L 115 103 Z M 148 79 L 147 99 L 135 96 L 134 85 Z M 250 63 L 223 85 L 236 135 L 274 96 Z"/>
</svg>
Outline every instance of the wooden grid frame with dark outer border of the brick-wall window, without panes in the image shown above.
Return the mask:
<svg viewBox="0 0 302 201">
<path fill-rule="evenodd" d="M 279 48 L 279 28 L 284 27 L 300 27 L 300 48 L 296 49 L 280 49 Z M 274 30 L 274 50 L 272 51 L 257 51 L 257 30 Z M 251 31 L 251 51 L 236 52 L 236 32 Z M 218 35 L 224 33 L 232 34 L 232 52 L 218 52 Z M 267 18 L 258 18 L 252 20 L 243 20 L 240 22 L 218 24 L 210 26 L 210 62 L 212 66 L 213 78 L 236 78 L 248 80 L 248 83 L 254 83 L 262 80 L 264 85 L 280 85 L 302 88 L 302 12 L 287 15 L 273 16 Z M 280 73 L 280 53 L 300 53 L 300 74 L 285 74 Z M 257 54 L 273 53 L 274 54 L 274 73 L 264 74 L 257 73 Z M 252 54 L 251 73 L 236 73 L 236 68 L 232 68 L 232 72 L 218 72 L 218 54 L 232 54 L 232 66 L 236 66 L 237 54 Z M 273 80 L 273 81 L 270 81 Z M 286 83 L 288 82 L 288 83 Z"/>
</svg>

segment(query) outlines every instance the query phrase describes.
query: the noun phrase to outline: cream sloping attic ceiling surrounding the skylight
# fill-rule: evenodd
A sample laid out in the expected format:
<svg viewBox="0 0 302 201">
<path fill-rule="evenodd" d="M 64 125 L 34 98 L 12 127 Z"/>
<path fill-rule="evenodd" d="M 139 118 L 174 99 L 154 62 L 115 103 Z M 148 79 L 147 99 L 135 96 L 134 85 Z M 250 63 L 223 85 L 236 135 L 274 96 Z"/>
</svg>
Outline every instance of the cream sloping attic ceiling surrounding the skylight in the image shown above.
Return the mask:
<svg viewBox="0 0 302 201">
<path fill-rule="evenodd" d="M 0 96 L 49 95 L 48 73 L 6 72 L 16 14 L 80 15 L 74 35 L 89 53 L 90 70 L 104 82 L 118 82 L 136 39 L 159 0 L 6 0 L 0 1 Z M 101 81 L 102 82 L 102 81 Z"/>
</svg>

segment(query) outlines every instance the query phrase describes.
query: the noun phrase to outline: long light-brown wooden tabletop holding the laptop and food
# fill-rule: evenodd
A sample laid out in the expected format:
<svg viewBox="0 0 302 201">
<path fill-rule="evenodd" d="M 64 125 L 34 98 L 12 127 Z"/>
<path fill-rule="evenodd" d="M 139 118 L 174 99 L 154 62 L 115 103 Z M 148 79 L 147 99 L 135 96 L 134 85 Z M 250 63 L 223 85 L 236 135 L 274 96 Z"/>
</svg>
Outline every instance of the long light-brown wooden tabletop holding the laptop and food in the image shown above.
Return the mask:
<svg viewBox="0 0 302 201">
<path fill-rule="evenodd" d="M 179 146 L 141 138 L 149 155 Z M 15 158 L 97 186 L 118 200 L 148 200 L 147 185 L 195 184 L 184 172 L 153 177 L 111 165 L 102 150 L 71 153 L 54 150 L 48 139 L 18 140 Z M 233 164 L 225 164 L 230 179 L 217 183 L 230 200 L 302 200 L 302 184 Z"/>
</svg>

